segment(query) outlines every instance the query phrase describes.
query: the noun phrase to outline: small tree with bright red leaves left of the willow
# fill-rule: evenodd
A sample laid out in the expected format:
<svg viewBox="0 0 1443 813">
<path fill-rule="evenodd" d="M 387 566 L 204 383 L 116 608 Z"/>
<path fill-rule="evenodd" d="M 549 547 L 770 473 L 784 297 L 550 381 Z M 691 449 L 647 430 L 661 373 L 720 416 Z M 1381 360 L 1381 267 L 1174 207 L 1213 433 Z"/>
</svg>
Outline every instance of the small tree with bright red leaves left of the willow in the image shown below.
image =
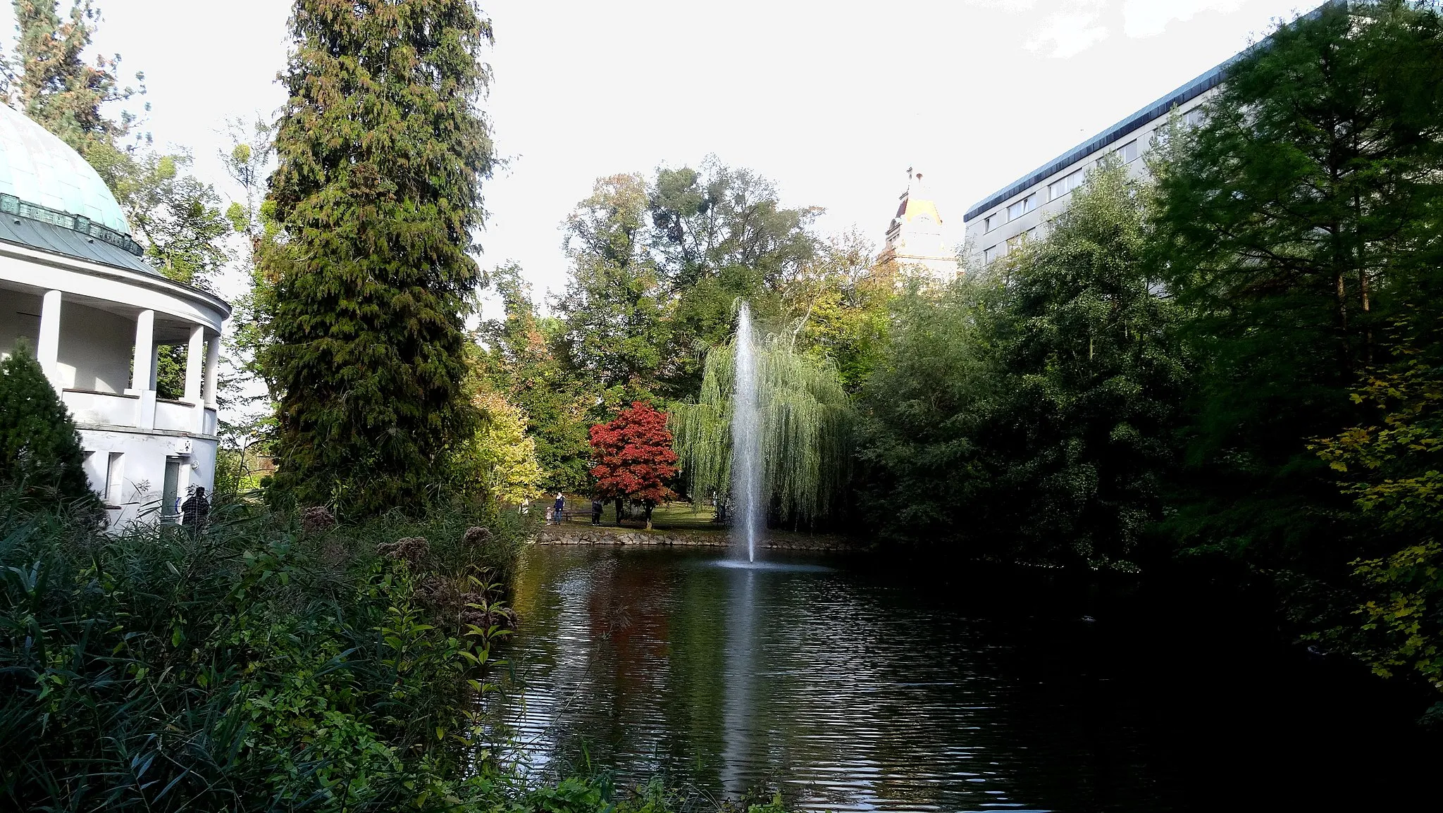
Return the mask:
<svg viewBox="0 0 1443 813">
<path fill-rule="evenodd" d="M 667 481 L 677 477 L 667 413 L 636 401 L 609 423 L 592 426 L 592 449 L 596 491 L 602 498 L 616 500 L 616 524 L 622 521 L 622 500 L 633 500 L 646 507 L 649 530 L 651 510 L 674 495 Z"/>
</svg>

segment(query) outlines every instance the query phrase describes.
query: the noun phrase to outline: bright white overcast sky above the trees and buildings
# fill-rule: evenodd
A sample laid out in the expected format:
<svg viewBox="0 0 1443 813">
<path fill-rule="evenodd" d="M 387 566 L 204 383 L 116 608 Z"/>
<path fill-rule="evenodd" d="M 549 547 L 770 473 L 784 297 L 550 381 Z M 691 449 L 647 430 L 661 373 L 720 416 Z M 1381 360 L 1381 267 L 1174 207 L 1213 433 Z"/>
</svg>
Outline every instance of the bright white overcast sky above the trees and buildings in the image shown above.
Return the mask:
<svg viewBox="0 0 1443 813">
<path fill-rule="evenodd" d="M 483 191 L 481 261 L 557 292 L 557 225 L 595 178 L 709 153 L 879 243 L 916 166 L 958 243 L 971 204 L 1317 1 L 494 0 L 485 107 L 508 166 Z M 97 46 L 146 72 L 147 129 L 228 191 L 224 123 L 283 101 L 290 3 L 95 4 Z"/>
</svg>

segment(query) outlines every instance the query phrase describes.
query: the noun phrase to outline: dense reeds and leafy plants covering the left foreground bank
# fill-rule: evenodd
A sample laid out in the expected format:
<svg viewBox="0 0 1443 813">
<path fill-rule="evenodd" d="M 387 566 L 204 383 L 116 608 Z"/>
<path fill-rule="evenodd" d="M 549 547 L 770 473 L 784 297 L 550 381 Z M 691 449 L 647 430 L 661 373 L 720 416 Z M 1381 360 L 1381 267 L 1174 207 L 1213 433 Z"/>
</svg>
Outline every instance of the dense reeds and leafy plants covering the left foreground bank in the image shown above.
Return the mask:
<svg viewBox="0 0 1443 813">
<path fill-rule="evenodd" d="M 0 807 L 671 809 L 498 768 L 475 702 L 534 530 L 221 507 L 104 536 L 0 497 Z"/>
</svg>

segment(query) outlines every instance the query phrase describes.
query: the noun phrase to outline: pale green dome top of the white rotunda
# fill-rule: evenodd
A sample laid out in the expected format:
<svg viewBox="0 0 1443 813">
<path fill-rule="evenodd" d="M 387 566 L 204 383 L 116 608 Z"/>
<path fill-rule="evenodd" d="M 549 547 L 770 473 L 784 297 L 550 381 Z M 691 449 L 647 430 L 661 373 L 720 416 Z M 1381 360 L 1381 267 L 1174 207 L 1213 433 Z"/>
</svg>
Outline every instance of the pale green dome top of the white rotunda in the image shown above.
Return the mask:
<svg viewBox="0 0 1443 813">
<path fill-rule="evenodd" d="M 0 194 L 130 234 L 126 215 L 89 163 L 58 136 L 0 104 Z"/>
</svg>

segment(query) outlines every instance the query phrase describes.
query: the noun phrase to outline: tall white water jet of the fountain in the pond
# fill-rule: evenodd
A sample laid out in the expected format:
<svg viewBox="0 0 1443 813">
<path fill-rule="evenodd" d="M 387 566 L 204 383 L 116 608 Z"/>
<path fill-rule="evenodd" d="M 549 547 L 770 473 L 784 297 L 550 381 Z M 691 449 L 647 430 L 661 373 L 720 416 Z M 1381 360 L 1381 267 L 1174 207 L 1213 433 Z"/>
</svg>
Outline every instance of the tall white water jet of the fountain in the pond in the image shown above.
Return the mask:
<svg viewBox="0 0 1443 813">
<path fill-rule="evenodd" d="M 756 537 L 766 517 L 762 500 L 762 414 L 756 404 L 756 336 L 752 310 L 742 305 L 736 325 L 736 383 L 732 396 L 733 539 L 746 539 L 746 560 L 756 560 Z"/>
</svg>

